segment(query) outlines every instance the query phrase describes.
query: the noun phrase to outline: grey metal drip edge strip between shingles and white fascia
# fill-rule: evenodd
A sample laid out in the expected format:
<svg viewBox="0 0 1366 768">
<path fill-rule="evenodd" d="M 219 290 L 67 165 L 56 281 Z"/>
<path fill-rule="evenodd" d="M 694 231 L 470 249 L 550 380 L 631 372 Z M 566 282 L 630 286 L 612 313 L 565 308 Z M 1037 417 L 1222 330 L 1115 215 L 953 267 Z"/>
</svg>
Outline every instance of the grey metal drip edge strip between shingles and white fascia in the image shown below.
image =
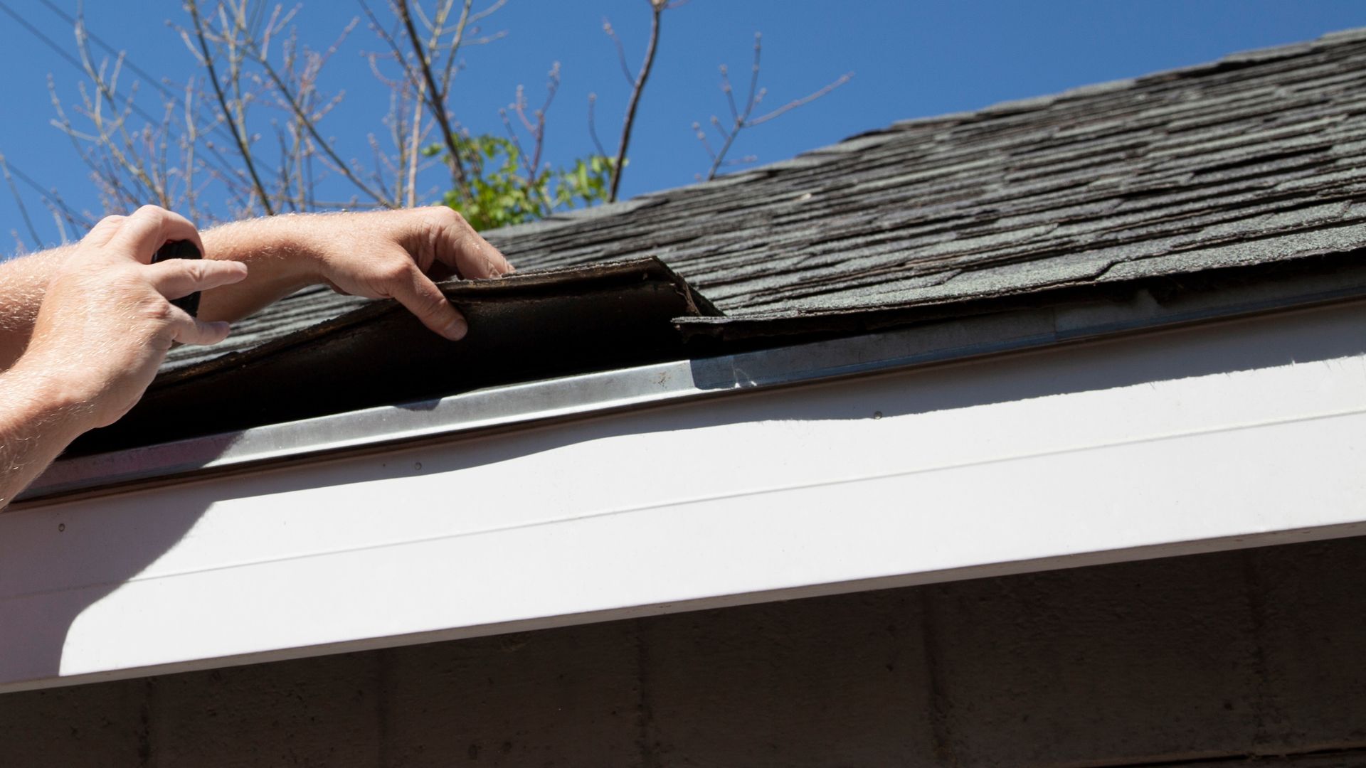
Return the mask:
<svg viewBox="0 0 1366 768">
<path fill-rule="evenodd" d="M 1366 268 L 1362 266 L 1236 286 L 1216 279 L 1199 290 L 1176 294 L 1169 286 L 1168 290 L 1138 287 L 1126 298 L 1112 295 L 1016 307 L 850 338 L 488 387 L 406 404 L 60 459 L 18 497 L 15 508 L 72 495 L 189 481 L 396 444 L 458 440 L 609 411 L 873 376 L 1359 298 L 1366 298 Z M 725 320 L 688 318 L 684 323 Z"/>
</svg>

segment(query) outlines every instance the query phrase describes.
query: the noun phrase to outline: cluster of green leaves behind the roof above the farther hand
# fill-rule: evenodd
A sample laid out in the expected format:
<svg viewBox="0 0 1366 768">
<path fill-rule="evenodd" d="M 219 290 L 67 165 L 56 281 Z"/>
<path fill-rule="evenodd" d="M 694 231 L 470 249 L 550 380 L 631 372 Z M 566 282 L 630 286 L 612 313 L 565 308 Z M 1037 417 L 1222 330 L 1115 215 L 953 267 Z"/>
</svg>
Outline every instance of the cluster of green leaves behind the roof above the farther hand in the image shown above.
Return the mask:
<svg viewBox="0 0 1366 768">
<path fill-rule="evenodd" d="M 581 157 L 568 168 L 548 163 L 537 168 L 516 142 L 492 134 L 459 137 L 455 146 L 471 171 L 470 183 L 469 189 L 447 191 L 441 202 L 459 210 L 475 230 L 535 221 L 608 198 L 613 163 L 601 154 Z M 444 157 L 445 145 L 433 143 L 422 153 Z"/>
</svg>

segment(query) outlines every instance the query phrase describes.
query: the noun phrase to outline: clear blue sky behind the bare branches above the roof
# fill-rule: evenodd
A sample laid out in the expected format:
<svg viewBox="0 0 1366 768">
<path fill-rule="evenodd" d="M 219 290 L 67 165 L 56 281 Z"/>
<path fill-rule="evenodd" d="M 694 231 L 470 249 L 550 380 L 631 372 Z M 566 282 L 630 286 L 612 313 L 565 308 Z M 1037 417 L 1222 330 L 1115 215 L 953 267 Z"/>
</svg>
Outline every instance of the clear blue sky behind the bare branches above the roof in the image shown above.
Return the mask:
<svg viewBox="0 0 1366 768">
<path fill-rule="evenodd" d="M 52 1 L 75 10 L 74 0 Z M 71 41 L 70 26 L 41 0 L 4 3 L 49 37 Z M 303 0 L 301 38 L 325 45 L 359 12 L 350 0 Z M 179 0 L 87 3 L 86 18 L 93 33 L 150 74 L 183 82 L 194 71 L 193 59 L 167 26 L 168 19 L 184 18 Z M 459 119 L 475 131 L 500 133 L 499 107 L 511 101 L 519 83 L 535 101 L 545 71 L 560 61 L 563 85 L 549 115 L 549 159 L 566 163 L 591 150 L 586 131 L 590 92 L 598 94 L 600 135 L 613 143 L 628 87 L 602 33 L 604 18 L 638 63 L 649 25 L 645 0 L 510 0 L 485 23 L 486 33 L 505 31 L 505 37 L 463 56 L 466 68 L 454 94 Z M 690 124 L 727 112 L 717 66 L 729 64 L 743 78 L 755 31 L 764 33 L 761 85 L 768 87 L 769 107 L 854 72 L 848 85 L 828 97 L 742 135 L 732 156 L 754 154 L 762 163 L 906 118 L 975 109 L 1363 25 L 1366 4 L 1346 0 L 691 0 L 664 18 L 623 197 L 691 183 L 705 172 L 708 157 Z M 322 126 L 343 156 L 366 154 L 366 131 L 381 130 L 388 94 L 362 56 L 381 45 L 361 25 L 325 72 L 325 89 L 346 90 L 342 107 Z M 79 72 L 3 15 L 0 67 L 7 72 L 0 81 L 5 105 L 0 152 L 41 186 L 98 215 L 85 167 L 70 141 L 49 126 L 48 75 L 71 105 L 78 100 Z M 146 104 L 157 111 L 158 101 Z M 51 216 L 36 194 L 20 191 L 38 220 L 40 236 L 51 243 L 57 236 Z M 0 190 L 0 251 L 15 249 L 11 230 L 22 230 L 18 210 Z"/>
</svg>

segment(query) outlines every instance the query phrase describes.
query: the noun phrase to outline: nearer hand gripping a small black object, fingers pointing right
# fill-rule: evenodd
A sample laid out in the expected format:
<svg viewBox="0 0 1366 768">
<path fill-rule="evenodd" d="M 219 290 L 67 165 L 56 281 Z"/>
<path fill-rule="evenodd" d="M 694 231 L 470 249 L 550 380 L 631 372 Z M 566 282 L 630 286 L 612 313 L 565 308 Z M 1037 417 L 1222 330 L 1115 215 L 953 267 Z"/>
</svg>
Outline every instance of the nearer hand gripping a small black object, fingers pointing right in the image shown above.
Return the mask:
<svg viewBox="0 0 1366 768">
<path fill-rule="evenodd" d="M 85 429 L 131 409 L 173 343 L 214 344 L 227 323 L 204 323 L 169 299 L 247 276 L 238 261 L 173 258 L 152 264 L 171 241 L 204 249 L 184 217 L 156 206 L 109 216 L 75 246 L 48 282 L 29 348 L 16 364 L 44 376 L 85 414 Z"/>
</svg>

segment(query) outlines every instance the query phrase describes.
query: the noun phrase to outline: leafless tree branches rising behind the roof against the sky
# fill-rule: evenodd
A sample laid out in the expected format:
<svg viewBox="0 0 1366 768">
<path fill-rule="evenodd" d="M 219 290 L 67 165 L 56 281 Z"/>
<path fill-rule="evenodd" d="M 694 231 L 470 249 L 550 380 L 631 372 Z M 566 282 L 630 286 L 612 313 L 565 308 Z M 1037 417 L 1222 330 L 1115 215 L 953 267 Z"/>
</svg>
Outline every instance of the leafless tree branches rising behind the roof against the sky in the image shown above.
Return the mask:
<svg viewBox="0 0 1366 768">
<path fill-rule="evenodd" d="M 10 1 L 0 0 L 0 14 Z M 138 82 L 127 79 L 133 75 L 126 74 L 124 82 L 119 82 L 122 70 L 134 71 L 126 56 L 94 60 L 85 51 L 86 37 L 90 46 L 109 49 L 108 45 L 78 29 L 82 60 L 72 61 L 85 72 L 86 82 L 81 86 L 81 101 L 66 112 L 59 107 L 53 122 L 92 168 L 107 206 L 127 208 L 150 198 L 164 205 L 189 205 L 191 215 L 213 217 L 262 210 L 269 215 L 337 206 L 410 206 L 428 194 L 445 194 L 452 205 L 462 210 L 469 206 L 471 215 L 482 216 L 481 225 L 499 225 L 522 216 L 544 216 L 581 198 L 615 201 L 622 194 L 641 100 L 660 52 L 661 16 L 684 0 L 647 0 L 652 25 L 643 57 L 635 66 L 627 60 L 624 38 L 604 19 L 617 64 L 631 83 L 620 137 L 609 154 L 596 126 L 597 98 L 590 94 L 589 137 L 597 154 L 578 160 L 568 169 L 546 163 L 546 115 L 560 83 L 557 68 L 549 74 L 538 109 L 530 107 L 529 94 L 519 86 L 516 100 L 500 113 L 508 141 L 471 137 L 451 108 L 454 82 L 464 66 L 460 49 L 500 36 L 485 34 L 475 25 L 504 7 L 505 0 L 388 0 L 389 8 L 374 8 L 378 14 L 372 11 L 370 0 L 358 1 L 384 41 L 380 52 L 366 56 L 377 79 L 389 90 L 389 109 L 382 116 L 387 135 L 380 130 L 359 131 L 366 137 L 370 157 L 352 160 L 346 154 L 347 145 L 325 138 L 331 123 L 322 120 L 331 116 L 344 92 L 324 93 L 320 71 L 337 52 L 337 44 L 318 51 L 303 45 L 301 40 L 311 40 L 310 33 L 302 22 L 291 26 L 298 5 L 291 10 L 266 0 L 186 0 L 186 16 L 193 25 L 172 26 L 204 64 L 212 90 L 195 77 L 179 85 L 165 81 L 157 86 L 167 97 L 157 118 L 139 105 L 152 92 L 143 89 L 138 97 Z M 40 3 L 55 8 L 60 0 Z M 481 7 L 475 8 L 477 4 Z M 728 71 L 721 70 L 729 120 L 713 122 L 719 143 L 709 143 L 705 134 L 698 137 L 708 152 L 712 176 L 749 160 L 728 159 L 729 152 L 739 154 L 732 145 L 740 130 L 821 98 L 847 81 L 841 78 L 755 118 L 764 100 L 758 56 L 755 41 L 750 93 L 744 100 L 746 94 L 734 93 Z M 183 93 L 171 93 L 172 89 Z M 273 109 L 287 116 L 268 115 Z M 697 133 L 703 127 L 694 126 Z M 440 138 L 432 135 L 437 130 Z M 262 142 L 258 133 L 269 138 Z M 553 159 L 552 154 L 549 160 Z M 0 175 L 4 171 L 0 168 Z M 340 194 L 328 193 L 326 201 L 316 200 L 316 193 L 335 186 L 329 179 L 336 178 L 350 183 L 359 200 L 339 201 L 351 194 L 346 187 Z M 7 178 L 11 194 L 16 190 L 27 194 L 16 186 L 19 180 L 16 174 Z M 433 180 L 440 186 L 419 189 Z M 219 184 L 225 190 L 223 194 L 216 191 Z M 217 195 L 212 201 L 210 191 Z M 79 215 L 61 212 L 55 197 L 45 195 L 44 204 L 61 221 L 78 220 Z M 31 220 L 26 224 L 30 232 L 36 228 Z"/>
</svg>

